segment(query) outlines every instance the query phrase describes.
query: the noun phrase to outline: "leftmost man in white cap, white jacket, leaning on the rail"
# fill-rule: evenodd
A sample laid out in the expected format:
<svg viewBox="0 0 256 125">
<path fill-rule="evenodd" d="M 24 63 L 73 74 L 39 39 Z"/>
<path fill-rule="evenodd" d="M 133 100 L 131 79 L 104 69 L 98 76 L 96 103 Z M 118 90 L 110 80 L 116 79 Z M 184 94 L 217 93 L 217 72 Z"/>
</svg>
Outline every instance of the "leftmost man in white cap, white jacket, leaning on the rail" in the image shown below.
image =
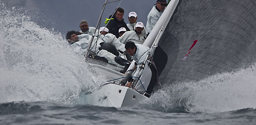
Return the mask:
<svg viewBox="0 0 256 125">
<path fill-rule="evenodd" d="M 102 34 L 100 36 L 100 39 L 102 39 L 104 41 L 104 43 L 108 43 L 108 44 L 112 44 L 116 47 L 116 49 L 118 49 L 119 51 L 124 52 L 125 48 L 124 48 L 124 44 L 121 43 L 114 34 L 108 33 L 109 29 L 105 28 L 105 27 L 101 27 L 99 29 L 99 32 Z"/>
</svg>

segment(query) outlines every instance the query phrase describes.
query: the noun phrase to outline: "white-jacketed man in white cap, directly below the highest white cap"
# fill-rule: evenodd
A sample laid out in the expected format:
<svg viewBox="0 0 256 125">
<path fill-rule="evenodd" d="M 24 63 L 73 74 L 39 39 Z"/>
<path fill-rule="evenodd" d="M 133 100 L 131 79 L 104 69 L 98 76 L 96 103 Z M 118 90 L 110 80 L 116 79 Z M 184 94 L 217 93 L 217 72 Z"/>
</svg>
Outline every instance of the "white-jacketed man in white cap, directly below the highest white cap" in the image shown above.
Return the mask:
<svg viewBox="0 0 256 125">
<path fill-rule="evenodd" d="M 142 22 L 137 22 L 135 25 L 135 31 L 127 31 L 118 40 L 125 44 L 128 41 L 132 41 L 134 43 L 143 44 L 146 39 L 145 34 L 142 33 L 144 29 L 144 25 Z"/>
</svg>

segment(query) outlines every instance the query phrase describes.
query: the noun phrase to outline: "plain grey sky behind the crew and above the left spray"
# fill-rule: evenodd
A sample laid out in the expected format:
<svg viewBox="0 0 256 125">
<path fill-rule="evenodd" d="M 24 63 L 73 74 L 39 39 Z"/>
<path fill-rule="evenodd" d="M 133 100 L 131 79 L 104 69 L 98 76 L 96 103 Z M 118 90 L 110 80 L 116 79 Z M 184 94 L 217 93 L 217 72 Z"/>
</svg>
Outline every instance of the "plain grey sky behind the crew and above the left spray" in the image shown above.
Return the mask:
<svg viewBox="0 0 256 125">
<path fill-rule="evenodd" d="M 6 0 L 4 2 L 10 7 L 28 10 L 28 15 L 39 26 L 54 28 L 65 35 L 70 30 L 78 31 L 79 22 L 83 19 L 88 20 L 89 26 L 95 27 L 105 0 Z M 146 25 L 147 14 L 155 3 L 156 0 L 123 0 L 120 7 L 124 9 L 124 21 L 129 23 L 127 16 L 129 12 L 135 11 L 138 15 L 137 21 L 142 21 Z M 106 6 L 102 21 L 114 12 L 118 4 L 119 2 Z M 102 24 L 104 23 L 102 22 L 101 26 Z"/>
</svg>

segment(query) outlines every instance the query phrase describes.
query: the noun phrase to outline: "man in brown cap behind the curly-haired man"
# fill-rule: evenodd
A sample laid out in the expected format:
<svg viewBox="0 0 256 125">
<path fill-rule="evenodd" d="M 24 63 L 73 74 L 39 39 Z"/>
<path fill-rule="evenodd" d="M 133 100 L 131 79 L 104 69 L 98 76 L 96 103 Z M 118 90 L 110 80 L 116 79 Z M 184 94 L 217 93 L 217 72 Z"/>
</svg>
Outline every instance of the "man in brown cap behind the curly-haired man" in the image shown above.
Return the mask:
<svg viewBox="0 0 256 125">
<path fill-rule="evenodd" d="M 94 27 L 89 27 L 88 22 L 86 20 L 82 20 L 79 23 L 79 28 L 81 31 L 79 31 L 82 34 L 88 34 L 88 35 L 93 35 L 95 28 Z M 98 30 L 96 31 L 95 35 L 97 36 Z"/>
</svg>

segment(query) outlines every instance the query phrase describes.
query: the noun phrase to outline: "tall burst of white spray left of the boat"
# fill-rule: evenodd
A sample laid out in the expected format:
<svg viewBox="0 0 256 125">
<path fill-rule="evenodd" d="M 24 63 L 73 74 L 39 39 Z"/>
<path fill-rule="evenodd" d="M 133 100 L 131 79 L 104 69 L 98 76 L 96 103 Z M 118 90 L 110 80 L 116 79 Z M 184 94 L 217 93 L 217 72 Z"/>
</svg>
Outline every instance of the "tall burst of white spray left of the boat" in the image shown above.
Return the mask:
<svg viewBox="0 0 256 125">
<path fill-rule="evenodd" d="M 81 92 L 105 80 L 73 54 L 60 33 L 40 28 L 19 12 L 0 5 L 0 103 L 75 104 Z"/>
</svg>

